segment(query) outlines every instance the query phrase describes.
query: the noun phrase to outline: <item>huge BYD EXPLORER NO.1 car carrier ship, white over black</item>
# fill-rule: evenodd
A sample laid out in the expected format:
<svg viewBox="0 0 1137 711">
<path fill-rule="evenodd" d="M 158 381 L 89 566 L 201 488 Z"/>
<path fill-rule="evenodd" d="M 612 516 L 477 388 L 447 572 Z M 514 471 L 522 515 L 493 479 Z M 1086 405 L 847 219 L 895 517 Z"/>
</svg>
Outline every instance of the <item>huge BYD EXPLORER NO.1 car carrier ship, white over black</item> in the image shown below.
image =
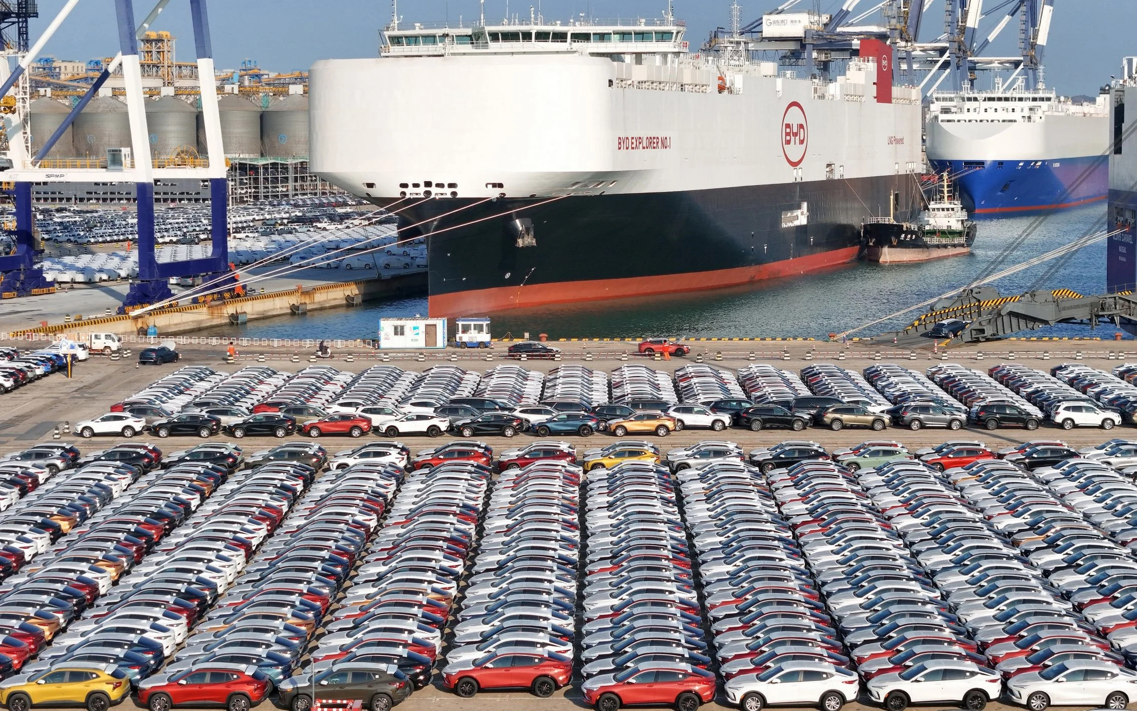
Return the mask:
<svg viewBox="0 0 1137 711">
<path fill-rule="evenodd" d="M 890 204 L 918 213 L 920 93 L 894 86 L 891 46 L 815 78 L 684 32 L 392 22 L 380 57 L 312 67 L 312 171 L 426 238 L 432 316 L 798 275 L 855 259 Z"/>
</svg>

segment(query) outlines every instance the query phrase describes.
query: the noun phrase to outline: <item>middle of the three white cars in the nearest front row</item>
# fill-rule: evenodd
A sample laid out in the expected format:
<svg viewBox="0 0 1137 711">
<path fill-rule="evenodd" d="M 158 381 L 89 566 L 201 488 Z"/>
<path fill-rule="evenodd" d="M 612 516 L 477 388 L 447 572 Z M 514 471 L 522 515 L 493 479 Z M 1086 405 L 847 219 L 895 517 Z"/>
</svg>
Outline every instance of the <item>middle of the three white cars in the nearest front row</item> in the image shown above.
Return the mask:
<svg viewBox="0 0 1137 711">
<path fill-rule="evenodd" d="M 882 673 L 865 684 L 869 697 L 887 711 L 904 711 L 910 703 L 962 703 L 979 711 L 1003 689 L 993 669 L 972 662 L 930 660 L 901 672 Z"/>
</svg>

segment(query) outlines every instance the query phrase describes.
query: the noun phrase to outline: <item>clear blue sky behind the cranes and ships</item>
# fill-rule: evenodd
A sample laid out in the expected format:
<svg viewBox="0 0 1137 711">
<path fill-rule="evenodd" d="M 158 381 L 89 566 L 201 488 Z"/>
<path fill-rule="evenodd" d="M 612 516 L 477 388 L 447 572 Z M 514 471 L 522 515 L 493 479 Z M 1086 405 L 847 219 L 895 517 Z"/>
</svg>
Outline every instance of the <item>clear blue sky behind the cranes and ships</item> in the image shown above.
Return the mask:
<svg viewBox="0 0 1137 711">
<path fill-rule="evenodd" d="M 781 0 L 740 0 L 745 20 L 775 8 Z M 878 0 L 862 0 L 868 10 Z M 938 28 L 943 1 L 935 0 L 924 19 L 928 30 Z M 509 15 L 528 16 L 538 6 L 546 19 L 567 19 L 586 13 L 595 18 L 659 17 L 667 0 L 484 0 L 487 19 Z M 729 0 L 673 0 L 675 16 L 687 20 L 688 39 L 698 47 L 716 26 L 729 24 Z M 816 5 L 833 11 L 840 0 L 803 0 L 799 7 Z M 987 0 L 987 7 L 1001 5 Z M 1064 94 L 1096 94 L 1120 71 L 1121 58 L 1137 55 L 1137 0 L 1056 0 L 1055 20 L 1046 52 L 1047 84 Z M 64 0 L 39 0 L 40 19 L 33 20 L 32 41 Z M 179 59 L 193 59 L 189 2 L 173 0 L 155 24 L 176 38 Z M 135 2 L 139 22 L 152 7 L 152 0 Z M 404 22 L 449 19 L 457 23 L 475 18 L 479 0 L 401 0 Z M 985 20 L 990 28 L 1002 13 Z M 307 69 L 313 61 L 338 57 L 377 55 L 379 30 L 391 18 L 391 0 L 213 0 L 209 19 L 214 55 L 218 67 L 233 68 L 244 59 L 273 72 Z M 745 22 L 744 20 L 744 22 Z M 930 35 L 930 32 L 928 33 Z M 1005 42 L 993 46 L 994 52 L 1011 53 L 1018 41 L 1018 23 L 1009 26 Z M 922 38 L 930 39 L 930 38 Z M 117 51 L 114 3 L 110 0 L 84 0 L 44 49 L 60 59 L 109 57 Z"/>
</svg>

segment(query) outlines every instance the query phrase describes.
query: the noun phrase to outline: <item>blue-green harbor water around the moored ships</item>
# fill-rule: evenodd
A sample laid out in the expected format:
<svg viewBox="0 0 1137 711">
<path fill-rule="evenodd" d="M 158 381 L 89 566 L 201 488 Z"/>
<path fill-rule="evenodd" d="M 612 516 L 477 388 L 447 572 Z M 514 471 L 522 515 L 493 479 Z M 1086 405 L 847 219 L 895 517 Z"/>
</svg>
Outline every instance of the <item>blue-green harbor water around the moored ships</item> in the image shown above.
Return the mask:
<svg viewBox="0 0 1137 711">
<path fill-rule="evenodd" d="M 1105 205 L 1096 204 L 1044 216 L 988 218 L 970 255 L 921 264 L 856 262 L 823 273 L 758 282 L 753 286 L 608 301 L 545 306 L 490 314 L 496 337 L 640 338 L 825 338 L 894 314 L 905 306 L 966 286 L 977 276 L 1014 266 L 1105 229 Z M 604 255 L 595 255 L 603 259 Z M 1003 295 L 1029 289 L 1105 290 L 1105 242 L 1030 267 L 991 283 Z M 582 295 L 587 296 L 587 295 Z M 901 329 L 923 309 L 894 317 L 855 336 Z M 282 316 L 241 326 L 215 329 L 214 336 L 250 338 L 374 338 L 383 316 L 426 315 L 426 298 L 371 301 L 356 308 Z M 482 314 L 468 314 L 471 316 Z M 1059 325 L 1031 336 L 1113 337 L 1113 329 L 1090 332 Z"/>
</svg>

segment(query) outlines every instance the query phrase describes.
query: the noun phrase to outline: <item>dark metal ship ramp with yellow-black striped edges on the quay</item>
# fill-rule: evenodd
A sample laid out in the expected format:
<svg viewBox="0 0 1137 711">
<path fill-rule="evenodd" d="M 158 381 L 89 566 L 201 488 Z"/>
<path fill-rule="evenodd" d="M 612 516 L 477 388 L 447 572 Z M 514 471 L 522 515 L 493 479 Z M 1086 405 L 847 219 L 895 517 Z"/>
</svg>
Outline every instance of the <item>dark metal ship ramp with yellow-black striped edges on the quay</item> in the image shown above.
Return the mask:
<svg viewBox="0 0 1137 711">
<path fill-rule="evenodd" d="M 1131 291 L 1084 296 L 1069 289 L 1035 290 L 1002 296 L 991 287 L 964 289 L 957 297 L 941 299 L 901 330 L 872 338 L 872 342 L 898 346 L 931 346 L 930 333 L 937 323 L 960 320 L 963 330 L 951 339 L 957 344 L 978 344 L 1036 331 L 1060 323 L 1112 325 L 1137 330 L 1137 295 Z M 940 341 L 941 342 L 941 341 Z"/>
</svg>

